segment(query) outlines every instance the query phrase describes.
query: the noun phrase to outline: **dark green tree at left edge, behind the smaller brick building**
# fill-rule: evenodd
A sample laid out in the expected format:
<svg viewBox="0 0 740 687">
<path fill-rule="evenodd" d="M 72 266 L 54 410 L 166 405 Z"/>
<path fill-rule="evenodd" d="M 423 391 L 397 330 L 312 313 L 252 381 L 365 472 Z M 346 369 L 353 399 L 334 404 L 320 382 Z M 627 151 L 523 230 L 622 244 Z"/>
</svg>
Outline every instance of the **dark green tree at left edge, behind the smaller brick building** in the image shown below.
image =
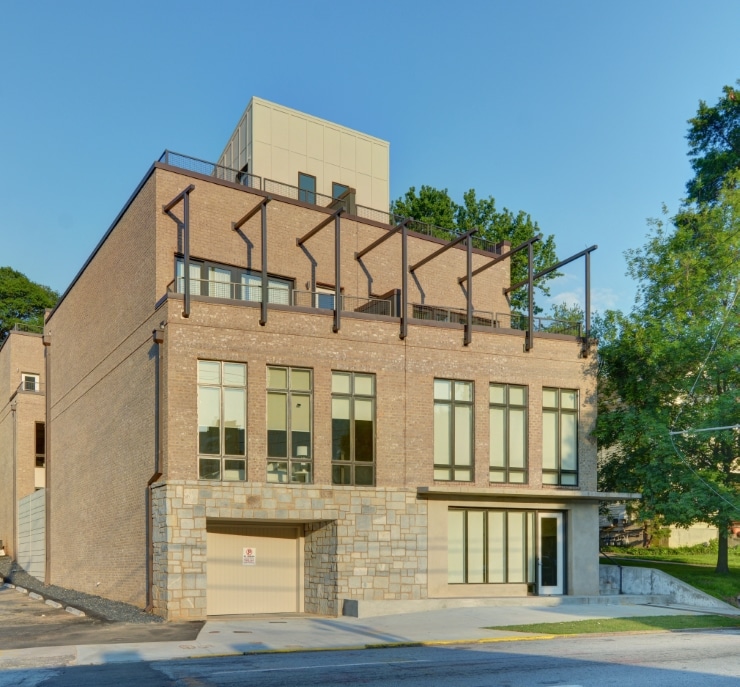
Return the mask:
<svg viewBox="0 0 740 687">
<path fill-rule="evenodd" d="M 44 310 L 53 308 L 59 294 L 32 282 L 11 267 L 0 267 L 0 342 L 16 324 L 41 327 Z"/>
</svg>

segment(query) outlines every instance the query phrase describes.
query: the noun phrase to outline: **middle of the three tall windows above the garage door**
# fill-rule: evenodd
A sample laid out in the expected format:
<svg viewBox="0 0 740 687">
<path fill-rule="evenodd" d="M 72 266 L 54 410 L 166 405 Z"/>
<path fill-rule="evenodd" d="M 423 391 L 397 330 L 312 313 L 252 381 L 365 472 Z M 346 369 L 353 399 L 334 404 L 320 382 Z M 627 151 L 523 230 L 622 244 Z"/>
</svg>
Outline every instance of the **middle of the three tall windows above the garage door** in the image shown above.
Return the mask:
<svg viewBox="0 0 740 687">
<path fill-rule="evenodd" d="M 267 481 L 313 481 L 311 370 L 267 368 Z"/>
</svg>

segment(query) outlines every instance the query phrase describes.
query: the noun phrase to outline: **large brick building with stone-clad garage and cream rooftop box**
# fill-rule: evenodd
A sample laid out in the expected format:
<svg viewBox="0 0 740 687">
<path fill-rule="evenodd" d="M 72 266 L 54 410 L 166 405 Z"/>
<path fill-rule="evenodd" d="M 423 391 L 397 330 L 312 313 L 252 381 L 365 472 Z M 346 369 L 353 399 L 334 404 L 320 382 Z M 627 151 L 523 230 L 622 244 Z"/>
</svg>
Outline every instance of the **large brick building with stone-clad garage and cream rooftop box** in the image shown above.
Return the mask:
<svg viewBox="0 0 740 687">
<path fill-rule="evenodd" d="M 255 100 L 145 174 L 46 322 L 49 582 L 170 619 L 598 594 L 584 338 L 512 316 L 510 246 L 373 205 L 387 151 Z"/>
</svg>

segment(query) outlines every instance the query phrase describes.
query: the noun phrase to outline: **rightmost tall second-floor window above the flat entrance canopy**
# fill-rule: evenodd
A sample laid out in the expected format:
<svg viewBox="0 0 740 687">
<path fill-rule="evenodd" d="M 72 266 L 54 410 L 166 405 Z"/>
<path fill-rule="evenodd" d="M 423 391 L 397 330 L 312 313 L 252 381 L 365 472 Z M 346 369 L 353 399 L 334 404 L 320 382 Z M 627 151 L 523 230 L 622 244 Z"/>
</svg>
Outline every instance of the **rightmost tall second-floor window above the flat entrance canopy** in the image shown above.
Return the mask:
<svg viewBox="0 0 740 687">
<path fill-rule="evenodd" d="M 578 391 L 542 389 L 542 483 L 578 484 Z"/>
</svg>

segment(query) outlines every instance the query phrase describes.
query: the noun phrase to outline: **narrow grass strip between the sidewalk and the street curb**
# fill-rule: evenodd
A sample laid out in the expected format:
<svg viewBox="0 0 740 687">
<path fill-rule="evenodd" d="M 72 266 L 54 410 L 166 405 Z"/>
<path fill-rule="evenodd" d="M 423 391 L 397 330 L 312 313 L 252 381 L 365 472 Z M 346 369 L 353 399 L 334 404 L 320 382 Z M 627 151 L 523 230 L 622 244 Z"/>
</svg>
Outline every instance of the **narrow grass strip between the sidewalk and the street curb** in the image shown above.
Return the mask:
<svg viewBox="0 0 740 687">
<path fill-rule="evenodd" d="M 645 618 L 601 618 L 565 623 L 500 625 L 488 630 L 514 630 L 548 635 L 593 634 L 597 632 L 655 632 L 656 630 L 696 630 L 713 627 L 740 627 L 740 618 L 721 615 L 655 615 Z"/>
</svg>

